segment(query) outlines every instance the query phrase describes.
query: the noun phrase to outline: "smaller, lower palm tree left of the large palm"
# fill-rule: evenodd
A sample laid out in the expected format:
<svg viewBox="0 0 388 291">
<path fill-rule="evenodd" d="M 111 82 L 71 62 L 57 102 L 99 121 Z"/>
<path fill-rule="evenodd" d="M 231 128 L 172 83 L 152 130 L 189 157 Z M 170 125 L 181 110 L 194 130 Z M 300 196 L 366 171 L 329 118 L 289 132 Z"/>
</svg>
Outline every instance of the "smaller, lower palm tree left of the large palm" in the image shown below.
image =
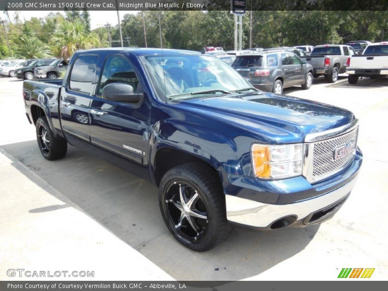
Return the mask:
<svg viewBox="0 0 388 291">
<path fill-rule="evenodd" d="M 51 55 L 49 47 L 33 36 L 21 36 L 15 42 L 15 54 L 26 59 L 40 59 Z"/>
</svg>

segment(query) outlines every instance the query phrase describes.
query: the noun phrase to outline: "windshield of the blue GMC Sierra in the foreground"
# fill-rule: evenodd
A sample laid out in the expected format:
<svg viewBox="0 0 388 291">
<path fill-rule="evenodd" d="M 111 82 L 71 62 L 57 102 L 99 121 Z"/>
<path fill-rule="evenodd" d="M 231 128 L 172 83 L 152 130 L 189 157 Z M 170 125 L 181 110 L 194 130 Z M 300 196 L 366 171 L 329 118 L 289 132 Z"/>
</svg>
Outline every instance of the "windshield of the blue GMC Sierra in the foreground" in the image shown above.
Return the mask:
<svg viewBox="0 0 388 291">
<path fill-rule="evenodd" d="M 141 57 L 147 75 L 163 100 L 212 97 L 253 88 L 239 73 L 216 57 L 150 55 Z"/>
</svg>

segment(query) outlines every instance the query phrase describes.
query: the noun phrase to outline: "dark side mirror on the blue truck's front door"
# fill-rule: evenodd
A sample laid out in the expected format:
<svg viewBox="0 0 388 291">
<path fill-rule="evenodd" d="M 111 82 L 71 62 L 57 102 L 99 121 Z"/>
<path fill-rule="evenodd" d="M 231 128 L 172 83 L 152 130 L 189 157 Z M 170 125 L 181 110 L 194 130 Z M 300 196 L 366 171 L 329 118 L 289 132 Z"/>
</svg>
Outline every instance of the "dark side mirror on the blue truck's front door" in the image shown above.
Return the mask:
<svg viewBox="0 0 388 291">
<path fill-rule="evenodd" d="M 143 94 L 134 94 L 131 85 L 111 83 L 102 89 L 102 98 L 117 102 L 138 103 L 143 99 Z"/>
</svg>

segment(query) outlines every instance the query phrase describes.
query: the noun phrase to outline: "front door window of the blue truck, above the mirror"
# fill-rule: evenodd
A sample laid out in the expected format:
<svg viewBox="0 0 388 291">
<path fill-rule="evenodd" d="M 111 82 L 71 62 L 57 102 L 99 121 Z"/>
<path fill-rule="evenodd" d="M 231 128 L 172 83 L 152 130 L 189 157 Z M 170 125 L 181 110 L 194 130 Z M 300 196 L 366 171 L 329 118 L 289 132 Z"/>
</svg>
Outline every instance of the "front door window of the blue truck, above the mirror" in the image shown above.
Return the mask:
<svg viewBox="0 0 388 291">
<path fill-rule="evenodd" d="M 102 95 L 104 86 L 111 83 L 125 83 L 131 85 L 133 93 L 140 92 L 139 79 L 129 61 L 120 56 L 109 57 L 104 65 L 101 80 L 98 84 L 97 95 Z"/>
</svg>

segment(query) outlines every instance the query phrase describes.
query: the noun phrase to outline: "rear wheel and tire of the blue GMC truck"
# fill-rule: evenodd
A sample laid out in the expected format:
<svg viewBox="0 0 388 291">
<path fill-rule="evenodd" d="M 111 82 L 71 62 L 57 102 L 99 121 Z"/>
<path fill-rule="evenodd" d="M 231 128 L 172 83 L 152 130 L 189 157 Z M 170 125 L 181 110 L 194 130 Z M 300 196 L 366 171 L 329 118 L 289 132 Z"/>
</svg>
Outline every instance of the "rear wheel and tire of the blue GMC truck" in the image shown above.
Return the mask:
<svg viewBox="0 0 388 291">
<path fill-rule="evenodd" d="M 36 139 L 45 159 L 54 161 L 65 157 L 67 142 L 62 138 L 54 137 L 46 117 L 40 117 L 36 121 Z"/>
</svg>

